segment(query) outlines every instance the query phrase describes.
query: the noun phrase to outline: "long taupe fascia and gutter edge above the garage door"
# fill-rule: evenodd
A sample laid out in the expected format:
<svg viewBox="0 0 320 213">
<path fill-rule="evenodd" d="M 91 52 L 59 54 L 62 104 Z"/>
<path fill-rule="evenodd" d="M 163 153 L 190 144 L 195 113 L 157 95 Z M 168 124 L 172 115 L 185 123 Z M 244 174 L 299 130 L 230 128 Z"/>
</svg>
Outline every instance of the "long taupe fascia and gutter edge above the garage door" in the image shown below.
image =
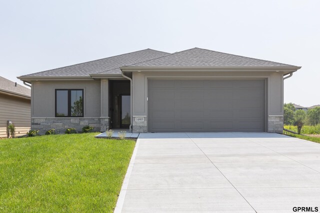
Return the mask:
<svg viewBox="0 0 320 213">
<path fill-rule="evenodd" d="M 207 72 L 282 72 L 283 74 L 295 72 L 300 66 L 122 66 L 120 69 L 126 72 L 138 71 L 207 71 Z"/>
</svg>

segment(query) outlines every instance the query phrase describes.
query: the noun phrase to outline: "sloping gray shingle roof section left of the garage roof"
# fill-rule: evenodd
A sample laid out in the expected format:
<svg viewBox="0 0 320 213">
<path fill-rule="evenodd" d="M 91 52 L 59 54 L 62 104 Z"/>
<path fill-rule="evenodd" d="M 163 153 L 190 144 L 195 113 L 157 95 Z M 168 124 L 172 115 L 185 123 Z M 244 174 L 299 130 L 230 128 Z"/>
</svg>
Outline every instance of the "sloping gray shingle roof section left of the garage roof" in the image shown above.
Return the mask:
<svg viewBox="0 0 320 213">
<path fill-rule="evenodd" d="M 111 56 L 94 61 L 74 64 L 70 66 L 50 69 L 23 76 L 89 76 L 89 74 L 101 73 L 110 70 L 111 74 L 120 74 L 120 66 L 125 66 L 152 58 L 161 57 L 170 53 L 153 49 L 144 49 L 122 55 Z"/>
</svg>

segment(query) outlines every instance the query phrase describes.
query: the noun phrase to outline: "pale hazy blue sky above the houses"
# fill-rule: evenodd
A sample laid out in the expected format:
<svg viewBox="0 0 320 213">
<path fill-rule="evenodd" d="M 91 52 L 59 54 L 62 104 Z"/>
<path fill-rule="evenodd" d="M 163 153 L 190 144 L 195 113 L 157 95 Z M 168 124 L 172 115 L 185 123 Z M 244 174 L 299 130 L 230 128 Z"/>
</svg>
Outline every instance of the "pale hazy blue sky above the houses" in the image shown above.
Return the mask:
<svg viewBox="0 0 320 213">
<path fill-rule="evenodd" d="M 320 104 L 317 0 L 0 0 L 0 75 L 152 48 L 193 47 L 302 66 L 284 101 Z"/>
</svg>

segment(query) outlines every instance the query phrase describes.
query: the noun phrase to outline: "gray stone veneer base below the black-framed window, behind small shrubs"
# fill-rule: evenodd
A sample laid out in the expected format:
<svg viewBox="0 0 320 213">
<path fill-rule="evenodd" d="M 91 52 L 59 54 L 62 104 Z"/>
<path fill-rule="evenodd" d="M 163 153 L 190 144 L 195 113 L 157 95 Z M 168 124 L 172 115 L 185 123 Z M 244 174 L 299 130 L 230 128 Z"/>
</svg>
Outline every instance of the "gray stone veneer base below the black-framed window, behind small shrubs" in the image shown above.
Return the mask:
<svg viewBox="0 0 320 213">
<path fill-rule="evenodd" d="M 109 118 L 31 118 L 31 130 L 40 130 L 40 135 L 50 129 L 55 129 L 57 134 L 64 133 L 68 128 L 82 132 L 84 126 L 93 127 L 95 132 L 103 132 L 109 129 Z"/>
</svg>

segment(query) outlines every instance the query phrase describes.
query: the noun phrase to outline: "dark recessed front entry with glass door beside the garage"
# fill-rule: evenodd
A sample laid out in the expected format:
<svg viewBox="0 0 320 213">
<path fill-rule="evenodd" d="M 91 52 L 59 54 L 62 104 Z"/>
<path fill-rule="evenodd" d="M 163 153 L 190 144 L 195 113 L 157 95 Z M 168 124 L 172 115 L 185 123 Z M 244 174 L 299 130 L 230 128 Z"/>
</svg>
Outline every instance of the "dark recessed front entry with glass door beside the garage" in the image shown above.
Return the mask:
<svg viewBox="0 0 320 213">
<path fill-rule="evenodd" d="M 109 81 L 110 129 L 128 129 L 130 126 L 130 82 Z"/>
</svg>

